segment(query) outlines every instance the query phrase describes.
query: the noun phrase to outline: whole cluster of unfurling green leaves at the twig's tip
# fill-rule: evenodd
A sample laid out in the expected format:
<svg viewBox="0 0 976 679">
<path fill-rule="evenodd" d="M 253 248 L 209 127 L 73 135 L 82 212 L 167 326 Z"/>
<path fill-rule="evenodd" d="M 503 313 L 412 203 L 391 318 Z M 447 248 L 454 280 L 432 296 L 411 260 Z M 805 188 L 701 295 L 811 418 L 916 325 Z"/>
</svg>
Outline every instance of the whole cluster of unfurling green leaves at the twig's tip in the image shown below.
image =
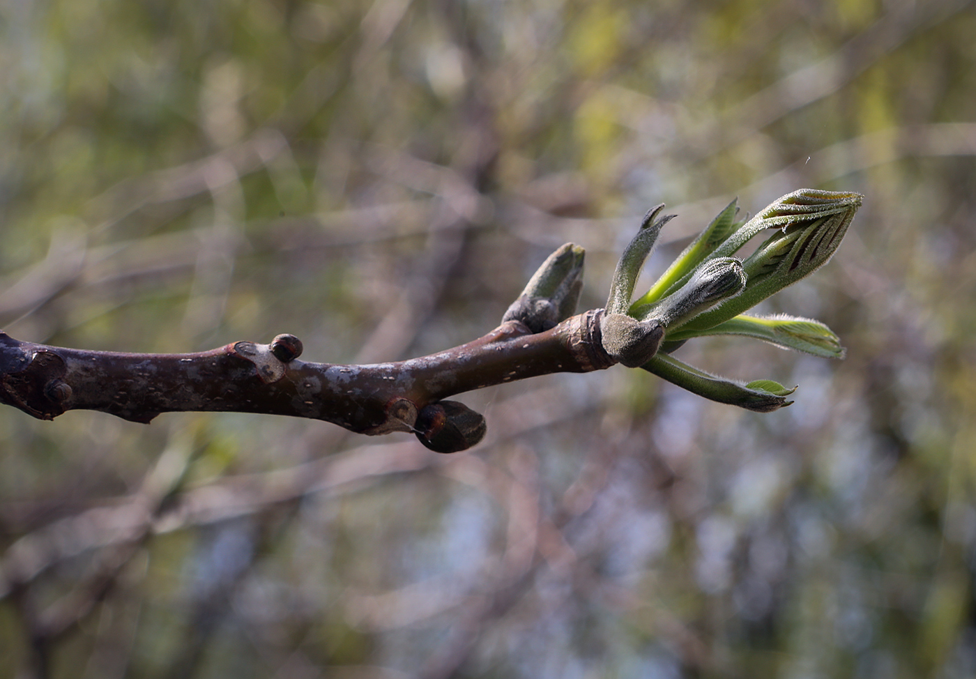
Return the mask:
<svg viewBox="0 0 976 679">
<path fill-rule="evenodd" d="M 732 201 L 647 294 L 628 304 L 640 267 L 657 237 L 656 232 L 643 233 L 661 209 L 655 208 L 617 266 L 607 301 L 609 313 L 601 322 L 604 350 L 624 365 L 639 364 L 712 401 L 759 413 L 790 405 L 792 401 L 786 397 L 795 387 L 772 379 L 747 384 L 718 378 L 682 363 L 671 352 L 695 337 L 742 335 L 816 356 L 842 358 L 840 340 L 819 321 L 785 315 L 746 316 L 743 312 L 830 260 L 862 198 L 858 193 L 804 188 L 783 196 L 748 221 L 735 220 L 736 201 Z M 732 257 L 769 228 L 778 230 L 745 261 Z M 622 316 L 625 309 L 627 315 Z M 654 353 L 640 363 L 651 353 L 645 346 Z"/>
</svg>

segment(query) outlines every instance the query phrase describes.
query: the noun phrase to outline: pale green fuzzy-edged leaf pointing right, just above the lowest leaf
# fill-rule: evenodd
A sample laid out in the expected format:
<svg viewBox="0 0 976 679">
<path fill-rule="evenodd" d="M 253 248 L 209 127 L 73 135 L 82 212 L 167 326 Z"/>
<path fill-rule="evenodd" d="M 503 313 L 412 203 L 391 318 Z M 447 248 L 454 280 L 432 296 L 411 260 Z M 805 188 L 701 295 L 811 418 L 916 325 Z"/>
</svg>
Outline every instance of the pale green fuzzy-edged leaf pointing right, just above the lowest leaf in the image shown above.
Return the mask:
<svg viewBox="0 0 976 679">
<path fill-rule="evenodd" d="M 826 325 L 811 318 L 799 318 L 786 314 L 775 316 L 739 315 L 704 331 L 684 333 L 683 328 L 679 329 L 673 334 L 669 334 L 669 339 L 674 341 L 707 335 L 742 335 L 748 338 L 762 339 L 785 349 L 804 351 L 814 356 L 844 357 L 844 347 L 840 345 L 840 339 Z"/>
</svg>

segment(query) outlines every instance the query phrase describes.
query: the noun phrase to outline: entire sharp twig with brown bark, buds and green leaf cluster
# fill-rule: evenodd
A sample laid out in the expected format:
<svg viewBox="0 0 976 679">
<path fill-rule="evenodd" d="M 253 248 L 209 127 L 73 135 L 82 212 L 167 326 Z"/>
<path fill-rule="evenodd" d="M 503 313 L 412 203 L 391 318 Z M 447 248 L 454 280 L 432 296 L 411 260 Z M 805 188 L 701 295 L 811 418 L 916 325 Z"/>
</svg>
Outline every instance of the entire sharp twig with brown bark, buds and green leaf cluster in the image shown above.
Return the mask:
<svg viewBox="0 0 976 679">
<path fill-rule="evenodd" d="M 687 366 L 671 352 L 688 339 L 740 335 L 819 356 L 841 357 L 836 336 L 808 319 L 742 312 L 833 256 L 862 196 L 801 189 L 746 222 L 733 201 L 678 256 L 647 294 L 634 283 L 662 226 L 655 208 L 625 251 L 605 309 L 575 314 L 584 250 L 568 243 L 546 260 L 487 335 L 395 363 L 336 365 L 299 360 L 302 342 L 238 341 L 187 354 L 86 351 L 0 333 L 0 402 L 39 419 L 97 410 L 148 422 L 160 413 L 236 411 L 324 419 L 353 432 L 414 432 L 427 448 L 453 453 L 476 444 L 484 418 L 448 397 L 551 373 L 587 373 L 622 363 L 706 398 L 757 412 L 791 402 L 769 379 L 743 384 Z M 775 228 L 748 259 L 735 253 Z M 574 315 L 575 314 L 575 315 Z"/>
</svg>

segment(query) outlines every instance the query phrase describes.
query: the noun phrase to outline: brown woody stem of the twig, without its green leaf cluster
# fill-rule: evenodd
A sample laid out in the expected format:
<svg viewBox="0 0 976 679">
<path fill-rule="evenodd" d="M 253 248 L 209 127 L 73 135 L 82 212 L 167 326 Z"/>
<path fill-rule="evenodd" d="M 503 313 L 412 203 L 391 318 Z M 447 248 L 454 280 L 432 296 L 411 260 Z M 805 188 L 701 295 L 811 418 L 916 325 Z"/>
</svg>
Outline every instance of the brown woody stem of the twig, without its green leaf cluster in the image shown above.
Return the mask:
<svg viewBox="0 0 976 679">
<path fill-rule="evenodd" d="M 324 419 L 363 434 L 413 431 L 439 452 L 464 450 L 484 419 L 443 399 L 550 373 L 586 373 L 617 360 L 603 348 L 602 309 L 533 333 L 505 321 L 487 335 L 395 363 L 336 365 L 298 359 L 302 343 L 238 341 L 187 354 L 86 351 L 0 333 L 0 402 L 39 419 L 96 410 L 148 422 L 160 413 L 236 411 Z"/>
</svg>

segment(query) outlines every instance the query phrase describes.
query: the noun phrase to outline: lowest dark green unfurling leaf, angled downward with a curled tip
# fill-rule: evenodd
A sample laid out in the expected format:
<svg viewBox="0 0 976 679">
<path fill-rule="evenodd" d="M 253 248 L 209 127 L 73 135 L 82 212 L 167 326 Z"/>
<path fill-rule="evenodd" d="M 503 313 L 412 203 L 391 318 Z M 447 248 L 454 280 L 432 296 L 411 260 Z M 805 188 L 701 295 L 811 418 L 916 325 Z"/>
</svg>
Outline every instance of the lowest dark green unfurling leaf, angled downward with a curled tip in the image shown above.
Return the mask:
<svg viewBox="0 0 976 679">
<path fill-rule="evenodd" d="M 757 379 L 742 384 L 718 378 L 660 352 L 641 367 L 694 394 L 756 413 L 771 413 L 793 403 L 786 397 L 793 393 L 795 387 L 788 389 L 772 379 Z"/>
</svg>

